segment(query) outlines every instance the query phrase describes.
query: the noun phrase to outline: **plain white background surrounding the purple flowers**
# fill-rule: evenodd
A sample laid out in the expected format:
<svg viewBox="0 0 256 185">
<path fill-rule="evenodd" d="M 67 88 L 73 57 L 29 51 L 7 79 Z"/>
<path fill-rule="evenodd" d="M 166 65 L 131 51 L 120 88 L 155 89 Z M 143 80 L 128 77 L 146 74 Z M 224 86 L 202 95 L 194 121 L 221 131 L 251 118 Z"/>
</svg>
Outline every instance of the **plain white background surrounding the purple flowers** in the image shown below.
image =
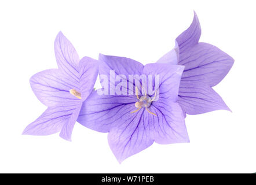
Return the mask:
<svg viewBox="0 0 256 185">
<path fill-rule="evenodd" d="M 179 173 L 256 172 L 255 1 L 1 1 L 0 172 Z M 21 135 L 46 109 L 29 79 L 57 68 L 53 42 L 59 31 L 80 57 L 98 53 L 155 62 L 192 22 L 200 42 L 235 59 L 216 90 L 232 112 L 186 117 L 191 143 L 158 145 L 122 164 L 107 134 L 76 123 L 72 142 L 58 134 Z M 97 83 L 96 87 L 100 84 Z"/>
</svg>

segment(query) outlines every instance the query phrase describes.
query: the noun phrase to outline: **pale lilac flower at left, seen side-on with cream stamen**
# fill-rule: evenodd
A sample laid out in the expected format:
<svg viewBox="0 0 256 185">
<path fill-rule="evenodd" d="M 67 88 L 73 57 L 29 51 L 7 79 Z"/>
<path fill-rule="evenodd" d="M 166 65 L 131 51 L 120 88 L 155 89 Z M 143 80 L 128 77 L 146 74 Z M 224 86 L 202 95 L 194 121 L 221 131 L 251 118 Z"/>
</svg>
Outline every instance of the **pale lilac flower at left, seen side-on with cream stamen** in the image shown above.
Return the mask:
<svg viewBox="0 0 256 185">
<path fill-rule="evenodd" d="M 98 61 L 89 57 L 79 60 L 74 46 L 60 32 L 54 42 L 58 69 L 36 73 L 30 79 L 36 97 L 48 108 L 23 131 L 28 135 L 60 132 L 71 140 L 72 129 L 82 102 L 93 90 L 98 75 Z"/>
</svg>

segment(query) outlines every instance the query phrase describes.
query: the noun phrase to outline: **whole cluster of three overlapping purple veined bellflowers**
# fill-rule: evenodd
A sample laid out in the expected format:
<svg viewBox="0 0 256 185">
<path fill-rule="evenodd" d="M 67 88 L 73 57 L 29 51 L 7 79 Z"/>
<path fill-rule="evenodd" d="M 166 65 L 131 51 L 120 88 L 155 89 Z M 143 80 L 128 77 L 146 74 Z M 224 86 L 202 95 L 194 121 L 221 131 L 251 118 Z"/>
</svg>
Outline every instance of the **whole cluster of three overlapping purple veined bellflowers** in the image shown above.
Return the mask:
<svg viewBox="0 0 256 185">
<path fill-rule="evenodd" d="M 28 135 L 60 132 L 71 140 L 76 121 L 98 132 L 122 162 L 151 146 L 189 142 L 186 114 L 229 110 L 213 86 L 221 82 L 233 58 L 199 43 L 198 17 L 157 62 L 142 65 L 125 57 L 99 55 L 79 59 L 60 32 L 54 42 L 58 69 L 36 73 L 30 83 L 45 112 L 23 131 Z M 97 77 L 102 88 L 94 90 Z"/>
</svg>

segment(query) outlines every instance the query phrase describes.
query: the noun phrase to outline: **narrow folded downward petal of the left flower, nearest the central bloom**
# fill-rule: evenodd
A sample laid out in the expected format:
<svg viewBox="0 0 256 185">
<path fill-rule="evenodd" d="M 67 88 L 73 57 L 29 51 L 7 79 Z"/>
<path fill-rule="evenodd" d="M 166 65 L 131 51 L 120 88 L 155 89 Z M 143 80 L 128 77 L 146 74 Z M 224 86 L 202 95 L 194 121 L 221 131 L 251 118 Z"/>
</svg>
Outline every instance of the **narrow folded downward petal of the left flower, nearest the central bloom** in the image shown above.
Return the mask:
<svg viewBox="0 0 256 185">
<path fill-rule="evenodd" d="M 61 131 L 60 131 L 61 138 L 71 141 L 71 134 L 72 134 L 76 119 L 78 118 L 81 106 L 82 106 L 82 102 L 79 102 L 74 112 L 70 116 L 70 119 L 61 128 Z"/>
</svg>

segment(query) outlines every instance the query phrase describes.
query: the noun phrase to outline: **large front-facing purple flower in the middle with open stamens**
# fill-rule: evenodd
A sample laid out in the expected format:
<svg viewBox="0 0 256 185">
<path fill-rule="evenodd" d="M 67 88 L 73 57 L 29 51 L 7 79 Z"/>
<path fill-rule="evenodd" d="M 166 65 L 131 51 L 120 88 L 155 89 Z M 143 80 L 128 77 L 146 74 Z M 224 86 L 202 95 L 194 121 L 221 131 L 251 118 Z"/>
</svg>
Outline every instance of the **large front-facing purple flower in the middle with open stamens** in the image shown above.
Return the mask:
<svg viewBox="0 0 256 185">
<path fill-rule="evenodd" d="M 111 80 L 111 70 L 121 76 L 119 80 Z M 78 122 L 99 132 L 109 132 L 109 146 L 119 162 L 146 149 L 154 141 L 159 144 L 189 142 L 184 115 L 176 102 L 183 70 L 184 66 L 180 65 L 155 63 L 144 66 L 129 58 L 100 54 L 99 74 L 101 82 L 108 80 L 107 94 L 117 90 L 120 83 L 125 93 L 99 95 L 98 90 L 92 92 L 83 102 Z M 145 83 L 136 85 L 130 81 L 130 75 L 142 76 L 134 79 L 144 82 L 145 76 L 153 76 L 152 91 L 147 92 L 148 83 L 145 86 Z"/>
</svg>

